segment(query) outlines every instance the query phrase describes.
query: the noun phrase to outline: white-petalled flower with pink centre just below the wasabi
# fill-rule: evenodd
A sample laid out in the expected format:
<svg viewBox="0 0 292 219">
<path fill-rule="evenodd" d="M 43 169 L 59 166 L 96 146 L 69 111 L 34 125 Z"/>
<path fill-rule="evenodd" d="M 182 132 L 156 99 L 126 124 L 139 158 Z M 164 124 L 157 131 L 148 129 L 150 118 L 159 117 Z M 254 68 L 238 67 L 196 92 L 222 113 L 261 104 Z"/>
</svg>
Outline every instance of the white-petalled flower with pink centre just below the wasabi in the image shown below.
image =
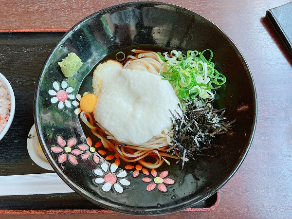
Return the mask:
<svg viewBox="0 0 292 219">
<path fill-rule="evenodd" d="M 54 96 L 51 98 L 51 103 L 55 104 L 58 103 L 58 108 L 63 109 L 64 104 L 66 107 L 70 108 L 71 105 L 76 105 L 78 103 L 77 101 L 70 101 L 75 98 L 74 94 L 71 94 L 73 92 L 73 88 L 68 86 L 68 83 L 66 81 L 61 82 L 61 87 L 57 81 L 53 82 L 53 89 L 49 90 L 49 94 Z"/>
</svg>

